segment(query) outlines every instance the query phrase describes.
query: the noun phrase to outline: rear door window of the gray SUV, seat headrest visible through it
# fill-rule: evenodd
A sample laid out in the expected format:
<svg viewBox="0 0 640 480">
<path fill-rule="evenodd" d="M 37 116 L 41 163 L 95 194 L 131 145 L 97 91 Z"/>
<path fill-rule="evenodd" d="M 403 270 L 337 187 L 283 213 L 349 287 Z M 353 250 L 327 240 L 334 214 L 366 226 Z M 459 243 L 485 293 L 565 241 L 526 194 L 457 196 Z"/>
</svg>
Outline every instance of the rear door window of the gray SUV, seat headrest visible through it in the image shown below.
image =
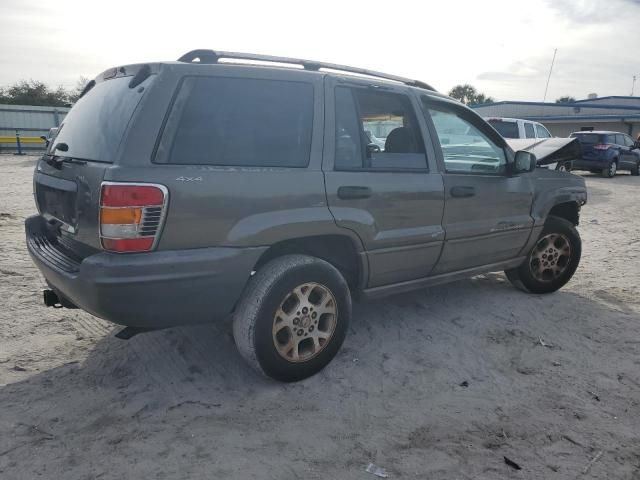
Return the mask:
<svg viewBox="0 0 640 480">
<path fill-rule="evenodd" d="M 409 98 L 336 87 L 336 169 L 426 169 L 427 159 Z"/>
</svg>

